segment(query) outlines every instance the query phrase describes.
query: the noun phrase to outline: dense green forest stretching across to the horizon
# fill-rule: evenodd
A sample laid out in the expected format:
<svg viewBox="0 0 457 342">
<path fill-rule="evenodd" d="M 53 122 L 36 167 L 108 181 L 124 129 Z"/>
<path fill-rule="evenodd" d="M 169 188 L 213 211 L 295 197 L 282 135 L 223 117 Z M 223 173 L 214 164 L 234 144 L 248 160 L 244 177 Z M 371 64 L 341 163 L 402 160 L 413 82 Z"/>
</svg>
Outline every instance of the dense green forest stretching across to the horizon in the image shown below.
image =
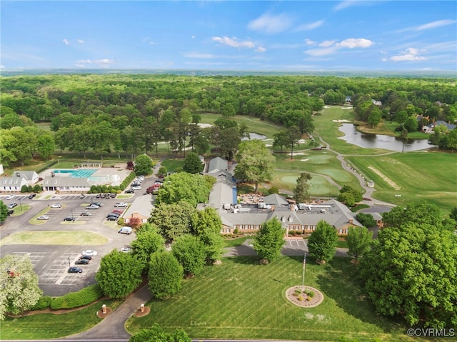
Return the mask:
<svg viewBox="0 0 457 342">
<path fill-rule="evenodd" d="M 314 113 L 349 99 L 356 118 L 370 126 L 385 119 L 415 131 L 457 119 L 455 79 L 73 74 L 0 81 L 0 156 L 6 166 L 37 154 L 46 159 L 54 148 L 81 156 L 92 151 L 102 159 L 114 152 L 153 154 L 159 141 L 180 156 L 189 146 L 201 154 L 215 146 L 229 157 L 246 135 L 232 116 L 255 116 L 306 134 L 314 129 Z M 225 119 L 201 129 L 202 113 Z M 38 129 L 39 122 L 50 122 L 51 132 Z M 456 148 L 446 132 L 439 133 L 434 145 Z"/>
</svg>

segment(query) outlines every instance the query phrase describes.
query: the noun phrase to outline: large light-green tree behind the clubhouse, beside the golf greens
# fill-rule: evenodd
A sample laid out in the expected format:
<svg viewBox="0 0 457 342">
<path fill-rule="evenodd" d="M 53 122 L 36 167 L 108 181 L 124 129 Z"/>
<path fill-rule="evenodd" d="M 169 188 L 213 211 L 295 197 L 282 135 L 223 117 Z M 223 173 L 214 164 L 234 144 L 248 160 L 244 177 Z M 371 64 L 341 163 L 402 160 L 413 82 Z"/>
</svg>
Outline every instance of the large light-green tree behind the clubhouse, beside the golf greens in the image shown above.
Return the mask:
<svg viewBox="0 0 457 342">
<path fill-rule="evenodd" d="M 275 158 L 271 151 L 260 140 L 243 141 L 236 153 L 238 164 L 235 168 L 235 177 L 255 184 L 271 181 L 275 165 Z"/>
</svg>

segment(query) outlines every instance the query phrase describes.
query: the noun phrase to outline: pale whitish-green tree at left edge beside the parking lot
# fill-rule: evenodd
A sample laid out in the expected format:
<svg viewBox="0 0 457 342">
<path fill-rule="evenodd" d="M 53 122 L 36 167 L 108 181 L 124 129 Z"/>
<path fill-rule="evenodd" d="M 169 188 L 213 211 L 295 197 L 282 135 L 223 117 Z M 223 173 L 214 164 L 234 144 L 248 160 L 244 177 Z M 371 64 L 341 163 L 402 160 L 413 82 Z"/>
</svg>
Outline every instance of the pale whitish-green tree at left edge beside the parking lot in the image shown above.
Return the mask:
<svg viewBox="0 0 457 342">
<path fill-rule="evenodd" d="M 0 258 L 0 319 L 32 308 L 43 291 L 38 286 L 29 256 L 9 254 Z"/>
</svg>

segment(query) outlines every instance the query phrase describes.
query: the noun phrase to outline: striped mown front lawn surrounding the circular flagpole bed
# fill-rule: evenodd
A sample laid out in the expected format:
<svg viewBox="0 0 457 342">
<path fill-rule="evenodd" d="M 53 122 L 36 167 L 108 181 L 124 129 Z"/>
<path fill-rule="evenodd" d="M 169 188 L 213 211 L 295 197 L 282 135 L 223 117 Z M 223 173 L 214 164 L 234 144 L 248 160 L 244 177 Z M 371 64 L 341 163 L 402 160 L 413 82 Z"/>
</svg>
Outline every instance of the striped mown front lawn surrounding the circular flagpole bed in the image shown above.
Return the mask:
<svg viewBox="0 0 457 342">
<path fill-rule="evenodd" d="M 305 284 L 318 288 L 324 301 L 316 308 L 288 302 L 288 287 L 301 285 L 303 257 L 281 256 L 266 266 L 256 258 L 224 258 L 186 280 L 175 296 L 152 300 L 149 316 L 129 318 L 130 333 L 153 323 L 191 338 L 266 338 L 338 341 L 418 341 L 406 336 L 406 326 L 376 314 L 357 283 L 356 266 L 336 258 L 318 266 L 306 263 Z"/>
</svg>

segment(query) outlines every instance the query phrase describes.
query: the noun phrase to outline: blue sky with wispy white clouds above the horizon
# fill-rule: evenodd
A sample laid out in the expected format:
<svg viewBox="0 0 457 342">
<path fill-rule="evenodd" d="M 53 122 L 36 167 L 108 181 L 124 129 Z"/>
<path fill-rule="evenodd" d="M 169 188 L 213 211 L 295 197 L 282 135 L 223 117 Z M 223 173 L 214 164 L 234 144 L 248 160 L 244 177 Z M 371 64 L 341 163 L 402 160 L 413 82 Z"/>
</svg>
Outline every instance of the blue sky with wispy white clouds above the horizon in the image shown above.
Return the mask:
<svg viewBox="0 0 457 342">
<path fill-rule="evenodd" d="M 4 1 L 2 69 L 457 69 L 457 1 Z"/>
</svg>

